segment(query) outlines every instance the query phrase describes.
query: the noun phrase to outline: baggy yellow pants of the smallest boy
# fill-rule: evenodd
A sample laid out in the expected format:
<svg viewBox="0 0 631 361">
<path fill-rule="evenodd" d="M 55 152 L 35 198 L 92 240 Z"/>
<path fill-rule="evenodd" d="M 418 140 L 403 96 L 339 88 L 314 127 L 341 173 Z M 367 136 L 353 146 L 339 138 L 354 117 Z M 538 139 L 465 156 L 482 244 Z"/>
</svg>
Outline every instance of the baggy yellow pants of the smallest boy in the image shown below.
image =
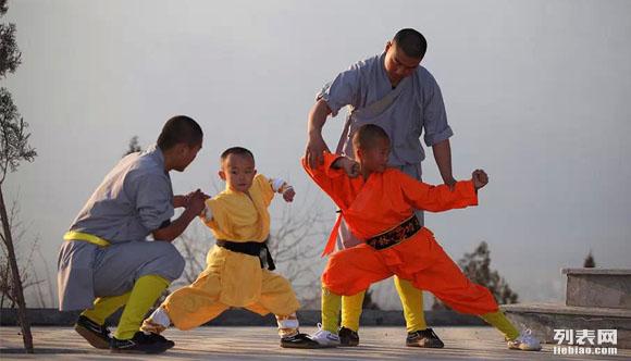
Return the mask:
<svg viewBox="0 0 631 361">
<path fill-rule="evenodd" d="M 162 303 L 171 322 L 190 329 L 216 318 L 231 307 L 243 307 L 261 315 L 292 315 L 300 303 L 289 282 L 261 270 L 259 258 L 214 247 L 207 267 L 189 286 L 171 294 Z"/>
</svg>

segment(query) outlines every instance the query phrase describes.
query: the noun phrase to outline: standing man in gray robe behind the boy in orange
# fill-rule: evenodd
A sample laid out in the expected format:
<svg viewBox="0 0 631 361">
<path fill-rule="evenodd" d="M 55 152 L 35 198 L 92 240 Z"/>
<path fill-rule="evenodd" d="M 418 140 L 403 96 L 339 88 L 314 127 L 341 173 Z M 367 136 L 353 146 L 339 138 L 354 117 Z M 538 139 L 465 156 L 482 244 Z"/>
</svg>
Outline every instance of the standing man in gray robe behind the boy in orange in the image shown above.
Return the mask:
<svg viewBox="0 0 631 361">
<path fill-rule="evenodd" d="M 355 129 L 363 124 L 376 124 L 384 128 L 392 141 L 388 165 L 421 179 L 421 162 L 425 152 L 420 137 L 432 147 L 434 159 L 445 184 L 453 186 L 456 180 L 451 174 L 451 151 L 449 137 L 454 134 L 447 124 L 447 115 L 441 89 L 432 74 L 420 66 L 426 50 L 425 38 L 415 29 L 403 29 L 394 39 L 387 41 L 385 51 L 352 64 L 339 73 L 317 96 L 317 102 L 309 113 L 306 159 L 311 166 L 322 162 L 322 152 L 329 151 L 322 137 L 326 117 L 337 115 L 343 108 L 349 107 L 344 132 L 336 152 L 352 157 L 351 137 Z M 423 225 L 423 212 L 417 211 Z M 354 247 L 359 242 L 342 219 L 338 249 Z M 395 277 L 395 285 L 408 328 L 407 346 L 443 347 L 443 343 L 426 328 L 422 291 L 407 281 Z M 357 302 L 352 302 L 357 304 Z M 345 302 L 343 300 L 343 308 Z M 358 343 L 357 333 L 348 331 L 347 324 L 359 324 L 361 311 L 343 312 L 339 335 L 350 334 Z M 345 314 L 357 315 L 357 320 L 345 320 Z M 352 329 L 351 329 L 352 331 Z M 354 340 L 350 341 L 351 346 Z"/>
</svg>

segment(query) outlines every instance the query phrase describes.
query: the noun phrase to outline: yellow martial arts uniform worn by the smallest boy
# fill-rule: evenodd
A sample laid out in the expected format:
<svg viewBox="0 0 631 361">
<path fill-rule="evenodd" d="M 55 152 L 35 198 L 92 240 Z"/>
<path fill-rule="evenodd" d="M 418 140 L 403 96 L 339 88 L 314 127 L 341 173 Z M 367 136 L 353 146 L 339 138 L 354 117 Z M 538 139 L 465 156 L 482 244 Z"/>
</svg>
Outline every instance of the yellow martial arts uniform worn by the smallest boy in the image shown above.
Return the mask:
<svg viewBox="0 0 631 361">
<path fill-rule="evenodd" d="M 264 242 L 270 233 L 268 207 L 274 194 L 271 180 L 258 174 L 248 194 L 226 187 L 207 200 L 212 217 L 203 216 L 203 222 L 216 239 Z M 297 328 L 294 313 L 300 304 L 289 282 L 261 269 L 258 257 L 214 246 L 206 261 L 206 270 L 191 285 L 174 291 L 162 303 L 177 328 L 197 327 L 230 307 L 243 307 L 261 315 L 272 312 L 281 328 L 282 320 L 287 319 L 292 322 L 286 328 Z M 296 327 L 292 327 L 294 323 Z"/>
</svg>

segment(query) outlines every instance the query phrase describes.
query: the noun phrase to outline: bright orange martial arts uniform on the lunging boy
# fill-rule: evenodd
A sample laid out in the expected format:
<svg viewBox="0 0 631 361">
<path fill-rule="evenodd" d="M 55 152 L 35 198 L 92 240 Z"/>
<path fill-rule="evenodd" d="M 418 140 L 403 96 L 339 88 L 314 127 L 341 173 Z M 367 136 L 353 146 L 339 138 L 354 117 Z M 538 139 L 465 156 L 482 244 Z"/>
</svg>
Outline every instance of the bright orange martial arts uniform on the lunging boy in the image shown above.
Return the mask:
<svg viewBox="0 0 631 361">
<path fill-rule="evenodd" d="M 341 216 L 359 239 L 397 227 L 413 215 L 415 209 L 440 212 L 478 204 L 471 180 L 458 182 L 451 191 L 446 185 L 430 186 L 394 169 L 372 173 L 366 180 L 361 176 L 350 178 L 343 170 L 332 167 L 338 158 L 325 153 L 324 164 L 318 169 L 310 169 L 305 160 L 302 165 L 341 209 Z M 339 219 L 335 228 L 338 224 Z M 333 253 L 322 283 L 325 291 L 351 296 L 393 275 L 430 290 L 456 311 L 478 315 L 498 311 L 488 289 L 469 281 L 425 227 L 382 250 L 361 244 Z"/>
</svg>

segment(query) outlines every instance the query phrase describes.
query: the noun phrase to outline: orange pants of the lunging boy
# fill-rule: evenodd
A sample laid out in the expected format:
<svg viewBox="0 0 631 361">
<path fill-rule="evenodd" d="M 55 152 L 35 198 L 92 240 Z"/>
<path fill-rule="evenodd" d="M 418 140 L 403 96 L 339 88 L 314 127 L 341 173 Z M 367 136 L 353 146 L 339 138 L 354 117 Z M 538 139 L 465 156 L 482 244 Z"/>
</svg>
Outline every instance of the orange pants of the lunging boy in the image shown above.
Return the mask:
<svg viewBox="0 0 631 361">
<path fill-rule="evenodd" d="M 336 295 L 351 296 L 393 275 L 431 291 L 458 312 L 485 314 L 498 310 L 488 289 L 469 281 L 424 227 L 413 237 L 383 250 L 362 244 L 333 253 L 322 274 L 322 284 Z"/>
</svg>

